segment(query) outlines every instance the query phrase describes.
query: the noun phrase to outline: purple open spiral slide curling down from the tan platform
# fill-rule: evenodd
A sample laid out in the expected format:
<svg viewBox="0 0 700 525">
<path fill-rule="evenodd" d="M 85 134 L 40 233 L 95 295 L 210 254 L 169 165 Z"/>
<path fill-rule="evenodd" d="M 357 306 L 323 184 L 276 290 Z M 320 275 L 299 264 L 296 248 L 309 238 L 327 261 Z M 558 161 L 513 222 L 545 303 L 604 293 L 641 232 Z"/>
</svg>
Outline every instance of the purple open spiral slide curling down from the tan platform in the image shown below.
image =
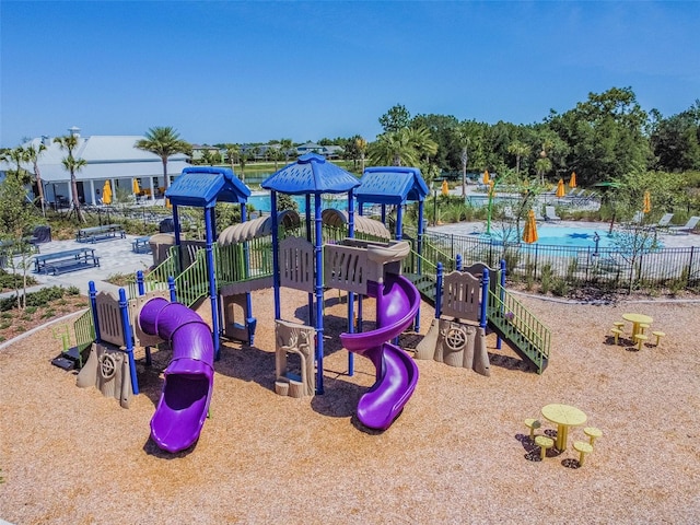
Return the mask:
<svg viewBox="0 0 700 525">
<path fill-rule="evenodd" d="M 368 295 L 376 300 L 377 329 L 341 334 L 342 346 L 374 363 L 376 382 L 358 402 L 358 419 L 370 429 L 386 430 L 401 412 L 418 383 L 418 366 L 399 347 L 387 341 L 408 328 L 420 305 L 420 294 L 401 276 L 387 275 L 380 294 L 376 282 L 369 282 Z"/>
</svg>

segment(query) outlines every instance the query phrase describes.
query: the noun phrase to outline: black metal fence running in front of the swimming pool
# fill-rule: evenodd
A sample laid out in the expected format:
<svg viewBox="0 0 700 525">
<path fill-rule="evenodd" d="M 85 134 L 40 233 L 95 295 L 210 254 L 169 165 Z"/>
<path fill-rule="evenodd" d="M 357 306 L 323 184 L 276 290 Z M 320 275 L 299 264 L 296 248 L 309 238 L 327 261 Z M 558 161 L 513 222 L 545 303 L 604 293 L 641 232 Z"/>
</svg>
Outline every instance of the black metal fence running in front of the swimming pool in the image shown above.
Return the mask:
<svg viewBox="0 0 700 525">
<path fill-rule="evenodd" d="M 416 240 L 416 231 L 408 232 Z M 482 261 L 491 267 L 505 259 L 508 278 L 542 288 L 597 287 L 608 291 L 693 290 L 700 287 L 700 247 L 658 248 L 625 254 L 616 247 L 569 247 L 492 243 L 474 236 L 427 232 L 424 258 L 454 269 Z"/>
</svg>

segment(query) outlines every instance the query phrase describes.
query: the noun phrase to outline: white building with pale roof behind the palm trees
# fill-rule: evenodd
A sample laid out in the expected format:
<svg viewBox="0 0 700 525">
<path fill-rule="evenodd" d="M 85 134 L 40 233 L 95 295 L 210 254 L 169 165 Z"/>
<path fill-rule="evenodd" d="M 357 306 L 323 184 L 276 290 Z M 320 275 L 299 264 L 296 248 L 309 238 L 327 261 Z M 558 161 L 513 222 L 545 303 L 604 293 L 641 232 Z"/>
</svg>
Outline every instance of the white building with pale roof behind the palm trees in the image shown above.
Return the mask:
<svg viewBox="0 0 700 525">
<path fill-rule="evenodd" d="M 79 136 L 78 128 L 70 128 L 71 133 Z M 163 161 L 154 153 L 139 150 L 136 143 L 144 139 L 141 136 L 92 136 L 80 137 L 78 147 L 73 150 L 75 159 L 83 159 L 86 165 L 77 174 L 78 197 L 81 202 L 95 205 L 102 202 L 102 190 L 105 180 L 109 180 L 112 192 L 116 188 L 125 188 L 129 194 L 133 192 L 133 180 L 138 180 L 139 188 L 149 195 L 151 199 L 160 196 L 164 188 Z M 49 203 L 63 203 L 70 201 L 70 172 L 63 165 L 68 152 L 61 150 L 51 137 L 33 139 L 22 144 L 35 148 L 44 143 L 44 150 L 38 158 L 38 170 L 44 185 L 44 198 Z M 172 155 L 167 162 L 167 175 L 171 182 L 178 176 L 184 167 L 190 166 L 188 158 L 184 153 Z M 1 163 L 0 171 L 14 170 L 16 166 Z M 34 173 L 34 166 L 23 164 L 30 173 Z M 36 192 L 36 189 L 35 189 Z"/>
</svg>

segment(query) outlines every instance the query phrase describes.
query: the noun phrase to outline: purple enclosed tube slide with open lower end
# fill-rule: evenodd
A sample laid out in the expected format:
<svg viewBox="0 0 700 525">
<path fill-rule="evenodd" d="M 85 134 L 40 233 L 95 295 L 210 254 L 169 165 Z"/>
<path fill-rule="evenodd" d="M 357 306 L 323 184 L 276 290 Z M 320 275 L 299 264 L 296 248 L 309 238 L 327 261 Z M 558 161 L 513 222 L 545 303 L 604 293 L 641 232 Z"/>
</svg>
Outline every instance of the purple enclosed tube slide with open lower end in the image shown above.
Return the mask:
<svg viewBox="0 0 700 525">
<path fill-rule="evenodd" d="M 173 358 L 151 419 L 151 439 L 171 453 L 190 447 L 207 419 L 214 378 L 211 329 L 180 303 L 151 299 L 139 314 L 141 329 L 171 342 Z"/>
</svg>

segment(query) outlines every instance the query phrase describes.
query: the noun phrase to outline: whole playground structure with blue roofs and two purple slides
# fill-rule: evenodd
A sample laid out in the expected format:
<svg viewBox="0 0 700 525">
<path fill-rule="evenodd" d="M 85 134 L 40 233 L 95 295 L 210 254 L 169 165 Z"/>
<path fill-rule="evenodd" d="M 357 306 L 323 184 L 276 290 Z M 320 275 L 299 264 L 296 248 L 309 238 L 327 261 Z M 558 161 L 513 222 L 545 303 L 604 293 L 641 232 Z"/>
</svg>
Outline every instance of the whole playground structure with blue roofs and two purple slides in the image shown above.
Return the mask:
<svg viewBox="0 0 700 525">
<path fill-rule="evenodd" d="M 410 399 L 419 376 L 413 359 L 389 341 L 418 318 L 421 296 L 411 281 L 423 287 L 435 281 L 428 278 L 431 273 L 430 264 L 420 255 L 420 228 L 423 221 L 419 221 L 417 243 L 411 245 L 401 240 L 401 210 L 408 197 L 418 200 L 419 218 L 422 219 L 422 200 L 428 188 L 420 172 L 400 167 L 368 168 L 365 177 L 358 180 L 334 164 L 325 163 L 318 155 L 304 155 L 262 184 L 270 190 L 271 215 L 246 221 L 245 202 L 249 190 L 235 178 L 233 172 L 224 168 L 186 168 L 167 191 L 173 205 L 175 232 L 173 235 L 160 234 L 151 238 L 154 262 L 159 265 L 147 277 L 138 273 L 137 283 L 129 289 L 131 299 L 127 300 L 124 290 L 120 290 L 118 300 L 107 296 L 109 294 L 97 294 L 91 284 L 90 315 L 83 316 L 77 324 L 77 332 L 80 324 L 83 334 L 81 345 L 85 347 L 88 339 L 91 348 L 85 372 L 79 374 L 79 385 L 95 385 L 105 395 L 120 399 L 121 405 L 128 407 L 130 396 L 138 394 L 133 346 L 145 348 L 145 361 L 150 364 L 149 348 L 170 342 L 173 360 L 165 372 L 163 394 L 151 422 L 151 435 L 160 447 L 168 452 L 187 448 L 197 440 L 206 418 L 213 384 L 213 362 L 220 352 L 220 337 L 248 345 L 254 342 L 257 322 L 253 316 L 250 293 L 255 290 L 270 287 L 275 290 L 275 390 L 292 397 L 324 393 L 323 294 L 324 290 L 332 288 L 348 292 L 348 330 L 339 336 L 343 347 L 349 350 L 348 374 L 353 374 L 354 353 L 370 359 L 376 369 L 375 384 L 359 401 L 358 419 L 369 428 L 386 430 Z M 392 190 L 398 188 L 399 195 L 372 192 L 373 188 L 385 191 L 387 187 Z M 358 217 L 353 212 L 355 188 Z M 301 221 L 294 212 L 277 212 L 278 191 L 305 195 L 305 221 Z M 324 192 L 347 192 L 348 211 L 322 210 L 320 195 Z M 217 201 L 240 203 L 242 217 L 241 224 L 224 229 L 218 238 L 213 213 Z M 385 207 L 397 207 L 395 241 L 388 240 L 390 235 L 383 222 L 362 217 L 365 203 L 381 205 L 384 220 Z M 205 209 L 205 241 L 180 238 L 178 208 L 182 206 Z M 331 226 L 330 230 L 328 226 Z M 335 233 L 329 236 L 329 231 Z M 355 232 L 366 238 L 355 238 Z M 412 249 L 416 246 L 418 254 Z M 407 265 L 408 260 L 417 264 Z M 483 280 L 489 282 L 486 278 L 489 272 L 483 268 L 481 270 Z M 438 273 L 435 278 L 440 281 L 435 288 L 440 295 L 442 278 Z M 452 279 L 448 276 L 445 285 L 447 290 L 457 290 L 458 285 L 452 283 Z M 494 279 L 490 282 L 487 285 L 489 290 L 482 291 L 481 299 L 477 301 L 481 313 L 476 317 L 474 308 L 477 306 L 471 292 L 469 301 L 465 301 L 467 295 L 464 293 L 451 295 L 448 292 L 446 296 L 452 299 L 435 302 L 436 320 L 443 314 L 452 316 L 452 320 L 447 320 L 453 325 L 448 328 L 443 326 L 443 332 L 447 330 L 446 334 L 450 334 L 452 330 L 455 334 L 455 325 L 464 319 L 470 322 L 468 324 L 478 319 L 479 326 L 474 330 L 469 326 L 465 332 L 470 340 L 481 341 L 478 352 L 474 352 L 476 359 L 471 359 L 468 366 L 481 373 L 488 373 L 488 354 L 483 343 L 486 326 L 481 326 L 483 319 L 487 319 L 490 329 L 508 340 L 514 340 L 512 330 L 522 332 L 520 327 L 523 324 L 522 312 L 513 306 L 514 300 L 502 283 L 494 285 Z M 308 293 L 308 324 L 281 318 L 281 290 L 285 288 Z M 472 279 L 464 289 L 475 290 L 478 287 Z M 355 295 L 357 315 L 353 310 Z M 357 327 L 361 329 L 364 296 L 375 298 L 376 327 L 355 334 L 353 319 L 357 318 Z M 175 299 L 182 304 L 174 303 Z M 466 306 L 459 305 L 460 301 Z M 203 306 L 210 306 L 211 325 L 205 324 L 189 310 Z M 438 311 L 442 313 L 438 314 Z M 170 313 L 161 318 L 159 312 Z M 506 312 L 515 312 L 515 318 L 504 315 Z M 509 320 L 511 331 L 502 326 L 503 319 Z M 205 326 L 207 329 L 203 329 Z M 418 323 L 416 326 L 418 329 Z M 431 328 L 427 340 L 430 340 L 432 332 Z M 205 335 L 211 345 L 205 343 Z M 438 345 L 447 345 L 444 342 L 447 339 L 442 336 L 443 342 L 435 342 L 431 352 L 425 350 L 429 343 L 421 345 L 416 357 L 421 359 L 432 353 L 435 358 L 442 354 L 442 360 L 447 363 L 458 361 L 456 352 L 445 351 L 442 347 L 438 349 Z M 471 345 L 477 346 L 476 342 Z M 542 347 L 541 341 L 533 343 L 537 345 Z M 544 347 L 537 349 L 545 355 L 539 360 L 538 372 L 546 366 L 548 345 L 547 339 Z M 460 358 L 463 365 L 470 361 L 465 353 L 468 352 L 463 352 Z M 294 363 L 299 365 L 291 366 Z M 110 369 L 115 370 L 114 374 Z M 182 415 L 175 407 L 184 405 L 185 410 L 189 411 Z M 179 433 L 174 430 L 175 427 L 179 427 Z"/>
</svg>

